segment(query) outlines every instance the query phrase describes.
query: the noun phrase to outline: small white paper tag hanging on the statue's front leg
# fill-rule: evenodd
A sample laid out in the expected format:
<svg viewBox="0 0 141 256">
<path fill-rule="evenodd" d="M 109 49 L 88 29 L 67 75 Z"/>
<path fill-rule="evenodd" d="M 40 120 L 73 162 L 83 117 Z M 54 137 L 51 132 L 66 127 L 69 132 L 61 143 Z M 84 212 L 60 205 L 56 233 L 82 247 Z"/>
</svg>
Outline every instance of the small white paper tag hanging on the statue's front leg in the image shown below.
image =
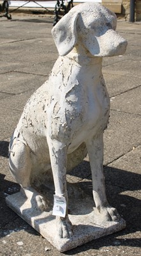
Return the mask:
<svg viewBox="0 0 141 256">
<path fill-rule="evenodd" d="M 54 195 L 54 207 L 52 215 L 65 217 L 66 215 L 66 198 L 64 196 Z"/>
</svg>

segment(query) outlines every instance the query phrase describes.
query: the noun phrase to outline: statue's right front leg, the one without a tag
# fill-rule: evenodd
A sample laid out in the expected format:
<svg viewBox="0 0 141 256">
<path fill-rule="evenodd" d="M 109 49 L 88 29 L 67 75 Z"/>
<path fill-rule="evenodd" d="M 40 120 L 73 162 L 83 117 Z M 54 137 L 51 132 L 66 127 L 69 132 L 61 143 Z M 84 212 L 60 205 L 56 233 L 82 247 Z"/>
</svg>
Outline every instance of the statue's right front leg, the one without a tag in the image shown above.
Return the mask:
<svg viewBox="0 0 141 256">
<path fill-rule="evenodd" d="M 86 142 L 93 180 L 93 197 L 96 208 L 103 220 L 119 219 L 117 210 L 110 207 L 105 193 L 105 178 L 103 174 L 103 132 Z"/>
</svg>

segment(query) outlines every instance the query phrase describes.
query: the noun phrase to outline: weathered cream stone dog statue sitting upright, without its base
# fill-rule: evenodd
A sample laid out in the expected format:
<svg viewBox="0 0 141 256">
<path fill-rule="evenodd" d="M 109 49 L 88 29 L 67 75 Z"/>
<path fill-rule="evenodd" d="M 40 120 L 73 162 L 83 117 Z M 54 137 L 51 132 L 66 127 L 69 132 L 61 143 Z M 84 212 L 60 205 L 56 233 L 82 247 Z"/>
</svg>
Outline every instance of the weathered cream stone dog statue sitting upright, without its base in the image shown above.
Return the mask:
<svg viewBox="0 0 141 256">
<path fill-rule="evenodd" d="M 30 191 L 34 177 L 52 168 L 56 196 L 66 201 L 64 216 L 55 214 L 59 237 L 72 235 L 66 172 L 87 152 L 96 208 L 104 220 L 119 218 L 107 202 L 103 177 L 110 100 L 101 63 L 103 57 L 123 54 L 127 45 L 115 28 L 115 14 L 96 3 L 75 6 L 54 26 L 59 58 L 48 81 L 28 100 L 11 137 L 10 171 L 21 190 Z"/>
</svg>

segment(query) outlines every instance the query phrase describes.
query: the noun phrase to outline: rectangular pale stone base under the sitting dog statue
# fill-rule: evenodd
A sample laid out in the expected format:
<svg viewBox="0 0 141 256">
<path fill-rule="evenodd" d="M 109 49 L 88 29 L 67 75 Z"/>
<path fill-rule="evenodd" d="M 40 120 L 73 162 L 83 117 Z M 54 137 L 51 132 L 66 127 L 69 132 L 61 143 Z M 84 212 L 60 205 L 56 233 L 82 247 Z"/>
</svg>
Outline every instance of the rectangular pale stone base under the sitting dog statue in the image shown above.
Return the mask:
<svg viewBox="0 0 141 256">
<path fill-rule="evenodd" d="M 7 196 L 6 203 L 22 219 L 37 230 L 41 236 L 45 237 L 60 252 L 76 248 L 93 239 L 107 236 L 126 227 L 126 222 L 100 220 L 100 214 L 93 207 L 93 198 L 74 200 L 70 203 L 71 214 L 70 221 L 73 225 L 73 236 L 70 239 L 59 238 L 56 236 L 56 217 L 52 216 L 52 207 L 47 211 L 41 211 L 35 207 L 35 198 L 39 195 L 37 192 L 27 199 L 21 192 Z"/>
</svg>

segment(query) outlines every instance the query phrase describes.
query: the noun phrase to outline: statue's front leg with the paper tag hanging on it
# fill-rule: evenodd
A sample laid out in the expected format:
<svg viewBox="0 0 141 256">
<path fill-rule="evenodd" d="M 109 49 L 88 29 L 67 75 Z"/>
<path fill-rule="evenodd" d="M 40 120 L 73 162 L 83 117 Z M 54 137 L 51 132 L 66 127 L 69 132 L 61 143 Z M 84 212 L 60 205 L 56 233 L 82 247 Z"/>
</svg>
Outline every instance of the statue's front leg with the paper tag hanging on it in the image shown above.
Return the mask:
<svg viewBox="0 0 141 256">
<path fill-rule="evenodd" d="M 65 216 L 56 216 L 57 236 L 69 238 L 72 235 L 72 225 L 68 218 L 68 193 L 66 188 L 67 147 L 57 140 L 50 139 L 48 140 L 48 147 L 56 196 L 63 197 L 66 200 Z"/>
</svg>

